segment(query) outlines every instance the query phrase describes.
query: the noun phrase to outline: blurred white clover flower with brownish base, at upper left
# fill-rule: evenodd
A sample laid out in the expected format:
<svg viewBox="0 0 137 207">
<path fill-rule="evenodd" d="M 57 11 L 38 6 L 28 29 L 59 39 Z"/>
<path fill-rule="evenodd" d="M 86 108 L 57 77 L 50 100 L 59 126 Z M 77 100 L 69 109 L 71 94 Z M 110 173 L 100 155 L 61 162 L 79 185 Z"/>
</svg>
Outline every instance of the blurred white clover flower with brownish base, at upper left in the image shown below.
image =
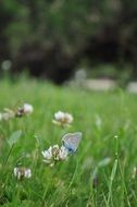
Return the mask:
<svg viewBox="0 0 137 207">
<path fill-rule="evenodd" d="M 25 114 L 33 113 L 34 108 L 29 104 L 24 104 L 21 108 L 17 109 L 16 111 L 16 117 L 23 117 Z"/>
</svg>

